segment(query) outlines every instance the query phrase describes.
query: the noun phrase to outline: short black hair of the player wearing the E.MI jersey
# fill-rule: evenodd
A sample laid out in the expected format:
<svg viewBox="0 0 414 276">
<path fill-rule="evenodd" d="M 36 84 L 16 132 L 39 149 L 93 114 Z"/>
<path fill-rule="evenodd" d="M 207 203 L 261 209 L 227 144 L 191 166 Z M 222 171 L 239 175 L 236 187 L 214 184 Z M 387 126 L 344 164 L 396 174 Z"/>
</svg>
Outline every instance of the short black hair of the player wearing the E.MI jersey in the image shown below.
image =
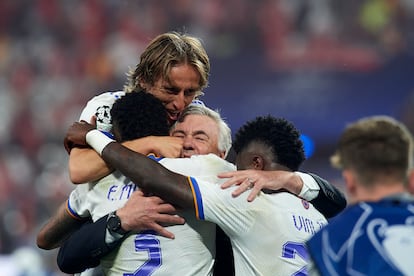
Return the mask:
<svg viewBox="0 0 414 276">
<path fill-rule="evenodd" d="M 165 107 L 149 93 L 126 93 L 114 103 L 111 117 L 119 142 L 169 133 Z"/>
</svg>

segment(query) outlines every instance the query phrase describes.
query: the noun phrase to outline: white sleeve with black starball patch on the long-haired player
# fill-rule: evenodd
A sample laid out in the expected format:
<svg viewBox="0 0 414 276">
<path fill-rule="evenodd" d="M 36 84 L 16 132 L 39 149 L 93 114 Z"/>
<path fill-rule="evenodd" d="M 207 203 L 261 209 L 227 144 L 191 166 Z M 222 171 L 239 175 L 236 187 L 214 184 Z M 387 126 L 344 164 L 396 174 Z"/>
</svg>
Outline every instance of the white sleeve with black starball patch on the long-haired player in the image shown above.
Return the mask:
<svg viewBox="0 0 414 276">
<path fill-rule="evenodd" d="M 88 101 L 79 121 L 90 122 L 96 116 L 96 128 L 106 133 L 112 131 L 111 108 L 114 102 L 125 95 L 124 91 L 105 92 Z"/>
</svg>

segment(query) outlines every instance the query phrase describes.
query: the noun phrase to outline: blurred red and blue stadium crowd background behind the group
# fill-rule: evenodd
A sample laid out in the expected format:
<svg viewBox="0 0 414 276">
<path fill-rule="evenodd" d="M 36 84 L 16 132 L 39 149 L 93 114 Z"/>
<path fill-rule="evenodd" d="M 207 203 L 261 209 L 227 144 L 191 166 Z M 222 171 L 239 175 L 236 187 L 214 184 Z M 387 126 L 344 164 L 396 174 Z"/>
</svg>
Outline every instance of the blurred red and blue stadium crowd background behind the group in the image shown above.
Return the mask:
<svg viewBox="0 0 414 276">
<path fill-rule="evenodd" d="M 61 275 L 35 240 L 74 188 L 65 131 L 174 30 L 202 39 L 202 100 L 233 132 L 256 115 L 291 120 L 314 145 L 303 170 L 340 188 L 329 155 L 347 122 L 387 114 L 414 130 L 412 0 L 2 0 L 0 275 Z"/>
</svg>

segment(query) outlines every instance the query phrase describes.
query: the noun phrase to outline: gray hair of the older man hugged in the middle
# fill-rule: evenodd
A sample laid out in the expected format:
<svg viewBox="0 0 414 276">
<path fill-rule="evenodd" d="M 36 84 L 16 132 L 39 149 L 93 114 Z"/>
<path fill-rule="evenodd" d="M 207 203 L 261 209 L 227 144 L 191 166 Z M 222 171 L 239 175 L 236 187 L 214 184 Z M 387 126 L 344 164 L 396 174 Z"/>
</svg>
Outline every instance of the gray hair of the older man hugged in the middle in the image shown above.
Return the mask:
<svg viewBox="0 0 414 276">
<path fill-rule="evenodd" d="M 199 104 L 190 104 L 184 111 L 180 114 L 177 123 L 182 123 L 186 116 L 188 115 L 202 115 L 207 116 L 213 119 L 217 123 L 217 127 L 219 130 L 218 136 L 218 149 L 220 151 L 224 151 L 225 157 L 230 151 L 231 148 L 231 129 L 228 124 L 224 121 L 221 117 L 218 110 L 212 110 L 204 105 Z M 172 129 L 175 128 L 175 124 L 172 126 Z"/>
</svg>

